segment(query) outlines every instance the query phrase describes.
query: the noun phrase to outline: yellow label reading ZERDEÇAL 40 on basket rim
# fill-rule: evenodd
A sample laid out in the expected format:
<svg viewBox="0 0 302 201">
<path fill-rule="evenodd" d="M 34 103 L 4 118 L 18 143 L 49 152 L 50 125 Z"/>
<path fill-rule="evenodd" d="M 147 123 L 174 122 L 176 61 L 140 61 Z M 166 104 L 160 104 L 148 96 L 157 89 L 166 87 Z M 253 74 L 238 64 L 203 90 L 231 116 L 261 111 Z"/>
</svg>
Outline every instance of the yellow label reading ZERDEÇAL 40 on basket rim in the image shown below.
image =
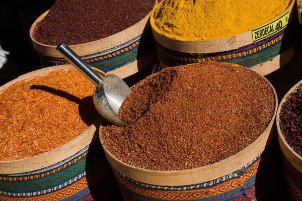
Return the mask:
<svg viewBox="0 0 302 201">
<path fill-rule="evenodd" d="M 255 43 L 266 39 L 279 32 L 280 30 L 284 29 L 288 24 L 288 20 L 289 13 L 287 11 L 281 17 L 275 19 L 274 21 L 252 30 L 253 42 Z"/>
</svg>

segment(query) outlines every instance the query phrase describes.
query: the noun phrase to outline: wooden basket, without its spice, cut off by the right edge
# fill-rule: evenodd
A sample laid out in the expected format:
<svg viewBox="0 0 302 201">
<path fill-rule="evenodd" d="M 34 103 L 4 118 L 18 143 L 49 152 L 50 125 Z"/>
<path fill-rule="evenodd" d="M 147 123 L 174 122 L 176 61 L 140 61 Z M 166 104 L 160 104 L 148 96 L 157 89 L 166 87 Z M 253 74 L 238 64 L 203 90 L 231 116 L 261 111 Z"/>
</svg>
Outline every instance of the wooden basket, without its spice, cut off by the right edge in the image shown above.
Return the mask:
<svg viewBox="0 0 302 201">
<path fill-rule="evenodd" d="M 282 104 L 286 102 L 288 95 L 295 91 L 297 86 L 302 83 L 302 80 L 295 84 L 288 92 L 283 96 L 280 105 L 278 107 L 276 122 L 279 144 L 282 150 L 283 166 L 287 185 L 289 186 L 289 197 L 292 200 L 302 200 L 302 157 L 299 156 L 286 142 L 280 129 L 280 110 Z"/>
</svg>

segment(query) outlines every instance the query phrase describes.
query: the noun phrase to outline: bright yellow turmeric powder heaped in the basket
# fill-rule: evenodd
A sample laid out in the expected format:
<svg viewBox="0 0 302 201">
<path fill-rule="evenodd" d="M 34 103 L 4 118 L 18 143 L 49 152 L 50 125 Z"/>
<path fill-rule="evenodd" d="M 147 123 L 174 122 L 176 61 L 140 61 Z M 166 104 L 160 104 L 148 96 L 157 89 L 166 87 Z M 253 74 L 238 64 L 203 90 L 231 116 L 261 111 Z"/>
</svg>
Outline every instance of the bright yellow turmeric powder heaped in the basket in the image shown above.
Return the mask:
<svg viewBox="0 0 302 201">
<path fill-rule="evenodd" d="M 153 12 L 153 29 L 167 38 L 208 41 L 236 36 L 281 16 L 293 0 L 164 0 Z"/>
</svg>

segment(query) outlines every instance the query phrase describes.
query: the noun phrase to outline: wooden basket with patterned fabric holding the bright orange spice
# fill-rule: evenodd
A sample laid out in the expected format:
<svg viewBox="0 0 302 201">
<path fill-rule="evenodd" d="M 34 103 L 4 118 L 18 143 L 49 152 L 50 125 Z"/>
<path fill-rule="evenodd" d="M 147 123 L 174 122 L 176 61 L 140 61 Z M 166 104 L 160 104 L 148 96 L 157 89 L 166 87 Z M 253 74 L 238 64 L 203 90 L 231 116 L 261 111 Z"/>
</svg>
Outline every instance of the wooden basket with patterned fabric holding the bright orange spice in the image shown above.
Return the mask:
<svg viewBox="0 0 302 201">
<path fill-rule="evenodd" d="M 0 87 L 45 76 L 58 65 L 24 74 Z M 100 117 L 78 137 L 49 152 L 13 161 L 0 161 L 0 200 L 100 200 L 120 198 L 120 193 L 99 142 Z"/>
</svg>

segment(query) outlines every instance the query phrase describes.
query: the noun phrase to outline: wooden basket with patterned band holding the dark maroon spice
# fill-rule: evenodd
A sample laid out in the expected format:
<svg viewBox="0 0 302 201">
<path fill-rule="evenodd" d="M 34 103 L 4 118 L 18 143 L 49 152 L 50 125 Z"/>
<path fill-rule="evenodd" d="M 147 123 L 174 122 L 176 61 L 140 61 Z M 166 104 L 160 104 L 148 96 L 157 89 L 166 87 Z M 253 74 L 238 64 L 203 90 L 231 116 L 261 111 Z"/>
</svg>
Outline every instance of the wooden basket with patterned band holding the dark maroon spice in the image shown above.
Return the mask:
<svg viewBox="0 0 302 201">
<path fill-rule="evenodd" d="M 155 2 L 156 7 L 158 1 Z M 39 54 L 42 67 L 69 64 L 56 51 L 56 46 L 39 43 L 33 38 L 34 28 L 47 13 L 48 11 L 42 14 L 30 28 L 30 37 Z M 151 12 L 133 26 L 117 34 L 69 47 L 90 66 L 117 74 L 121 78 L 128 77 L 157 61 L 156 46 L 149 24 L 150 14 Z"/>
</svg>

